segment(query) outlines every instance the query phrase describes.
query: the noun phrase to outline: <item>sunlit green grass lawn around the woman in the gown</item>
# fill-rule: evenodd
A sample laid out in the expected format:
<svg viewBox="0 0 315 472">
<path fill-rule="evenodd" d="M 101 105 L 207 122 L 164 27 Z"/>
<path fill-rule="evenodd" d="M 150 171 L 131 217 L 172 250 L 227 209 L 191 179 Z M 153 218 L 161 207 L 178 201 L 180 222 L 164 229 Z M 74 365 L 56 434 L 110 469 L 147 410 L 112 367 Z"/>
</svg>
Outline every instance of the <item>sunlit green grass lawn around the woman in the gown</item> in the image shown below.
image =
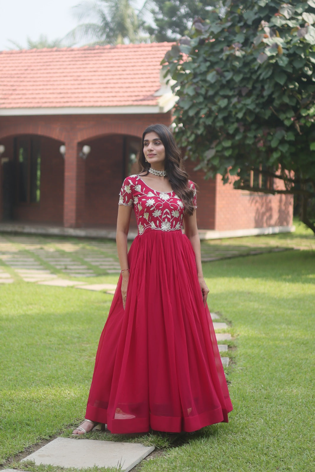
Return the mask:
<svg viewBox="0 0 315 472">
<path fill-rule="evenodd" d="M 305 234 L 292 236 L 313 244 Z M 285 236 L 262 237 L 289 245 Z M 238 244 L 254 238 L 245 239 Z M 178 447 L 146 435 L 145 443 L 165 448 L 141 471 L 314 471 L 315 251 L 203 267 L 210 308 L 236 335 L 228 368 L 234 411 L 228 424 L 185 435 Z M 111 299 L 23 281 L 0 286 L 0 464 L 44 438 L 69 435 L 83 417 Z"/>
</svg>

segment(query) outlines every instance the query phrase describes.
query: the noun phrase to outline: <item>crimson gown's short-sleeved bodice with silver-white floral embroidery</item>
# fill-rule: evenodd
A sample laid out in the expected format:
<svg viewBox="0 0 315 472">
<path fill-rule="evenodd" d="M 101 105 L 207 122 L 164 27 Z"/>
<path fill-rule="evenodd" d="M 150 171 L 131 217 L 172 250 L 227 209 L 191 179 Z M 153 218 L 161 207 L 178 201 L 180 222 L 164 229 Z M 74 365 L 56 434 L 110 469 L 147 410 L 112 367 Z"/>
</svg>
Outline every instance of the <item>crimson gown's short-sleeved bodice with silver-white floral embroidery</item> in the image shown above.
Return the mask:
<svg viewBox="0 0 315 472">
<path fill-rule="evenodd" d="M 193 189 L 193 206 L 196 206 L 196 189 Z M 141 235 L 147 229 L 161 231 L 183 230 L 184 203 L 172 192 L 159 192 L 147 185 L 140 176 L 132 175 L 123 181 L 119 204 L 133 206 Z"/>
</svg>

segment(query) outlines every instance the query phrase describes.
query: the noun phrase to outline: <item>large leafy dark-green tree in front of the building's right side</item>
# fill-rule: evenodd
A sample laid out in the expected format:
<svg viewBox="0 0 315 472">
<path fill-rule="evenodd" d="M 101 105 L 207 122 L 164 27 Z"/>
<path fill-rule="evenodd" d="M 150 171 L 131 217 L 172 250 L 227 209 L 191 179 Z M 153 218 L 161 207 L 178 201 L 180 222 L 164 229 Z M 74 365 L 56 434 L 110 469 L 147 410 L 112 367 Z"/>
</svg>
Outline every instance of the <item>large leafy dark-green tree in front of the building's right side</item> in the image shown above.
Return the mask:
<svg viewBox="0 0 315 472">
<path fill-rule="evenodd" d="M 176 139 L 208 177 L 300 195 L 300 218 L 315 233 L 315 0 L 226 6 L 166 54 L 179 96 Z M 248 182 L 250 171 L 264 185 Z M 282 188 L 268 188 L 271 178 Z"/>
</svg>

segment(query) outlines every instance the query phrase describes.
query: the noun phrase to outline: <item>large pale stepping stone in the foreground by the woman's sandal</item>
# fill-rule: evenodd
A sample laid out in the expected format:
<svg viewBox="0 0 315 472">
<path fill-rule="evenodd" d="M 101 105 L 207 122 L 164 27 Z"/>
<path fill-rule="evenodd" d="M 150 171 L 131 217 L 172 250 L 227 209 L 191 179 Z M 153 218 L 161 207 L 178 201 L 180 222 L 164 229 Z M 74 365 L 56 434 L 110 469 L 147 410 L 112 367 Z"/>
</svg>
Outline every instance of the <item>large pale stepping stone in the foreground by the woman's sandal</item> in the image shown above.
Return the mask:
<svg viewBox="0 0 315 472">
<path fill-rule="evenodd" d="M 149 455 L 154 446 L 95 439 L 57 438 L 28 455 L 21 462 L 34 460 L 36 465 L 49 464 L 60 467 L 115 467 L 130 471 Z"/>
</svg>

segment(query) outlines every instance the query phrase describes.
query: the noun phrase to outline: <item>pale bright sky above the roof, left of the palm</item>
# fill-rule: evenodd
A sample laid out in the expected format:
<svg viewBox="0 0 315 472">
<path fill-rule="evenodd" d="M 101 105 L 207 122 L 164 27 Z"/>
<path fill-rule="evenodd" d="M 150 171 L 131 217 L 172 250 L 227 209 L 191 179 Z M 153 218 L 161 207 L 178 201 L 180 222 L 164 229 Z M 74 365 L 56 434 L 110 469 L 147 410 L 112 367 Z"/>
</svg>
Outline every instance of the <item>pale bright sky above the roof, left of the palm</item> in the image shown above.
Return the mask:
<svg viewBox="0 0 315 472">
<path fill-rule="evenodd" d="M 78 25 L 71 7 L 80 0 L 0 0 L 0 51 L 13 49 L 9 40 L 27 47 L 26 37 L 32 41 L 41 34 L 50 41 L 62 38 Z M 141 7 L 143 0 L 135 0 Z"/>
</svg>

